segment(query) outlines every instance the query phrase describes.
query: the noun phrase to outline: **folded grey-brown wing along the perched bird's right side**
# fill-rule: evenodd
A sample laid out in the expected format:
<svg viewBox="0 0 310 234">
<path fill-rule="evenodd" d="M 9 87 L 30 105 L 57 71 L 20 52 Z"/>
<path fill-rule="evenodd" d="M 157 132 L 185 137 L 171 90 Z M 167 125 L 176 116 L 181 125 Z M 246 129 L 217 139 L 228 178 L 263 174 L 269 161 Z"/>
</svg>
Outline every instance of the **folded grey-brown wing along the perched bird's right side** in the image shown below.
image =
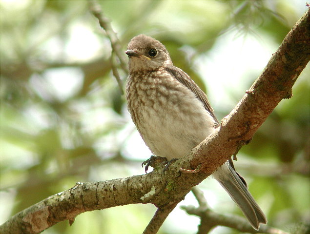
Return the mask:
<svg viewBox="0 0 310 234">
<path fill-rule="evenodd" d="M 180 68 L 175 66 L 166 66 L 165 70 L 196 95 L 196 97 L 204 104 L 207 112 L 214 118 L 214 121 L 217 123 L 217 127 L 219 125 L 219 121 L 214 115 L 213 108 L 208 101 L 207 95 L 199 88 L 199 86 Z"/>
</svg>

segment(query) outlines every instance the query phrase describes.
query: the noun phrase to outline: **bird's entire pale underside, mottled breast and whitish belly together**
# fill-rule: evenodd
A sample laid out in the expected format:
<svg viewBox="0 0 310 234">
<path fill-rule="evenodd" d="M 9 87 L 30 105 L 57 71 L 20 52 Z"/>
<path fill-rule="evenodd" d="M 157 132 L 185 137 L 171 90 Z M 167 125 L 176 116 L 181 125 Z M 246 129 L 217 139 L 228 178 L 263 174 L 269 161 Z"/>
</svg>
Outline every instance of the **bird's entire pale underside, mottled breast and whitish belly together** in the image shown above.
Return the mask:
<svg viewBox="0 0 310 234">
<path fill-rule="evenodd" d="M 202 102 L 169 74 L 129 76 L 126 99 L 133 122 L 156 156 L 186 156 L 214 131 Z"/>
</svg>

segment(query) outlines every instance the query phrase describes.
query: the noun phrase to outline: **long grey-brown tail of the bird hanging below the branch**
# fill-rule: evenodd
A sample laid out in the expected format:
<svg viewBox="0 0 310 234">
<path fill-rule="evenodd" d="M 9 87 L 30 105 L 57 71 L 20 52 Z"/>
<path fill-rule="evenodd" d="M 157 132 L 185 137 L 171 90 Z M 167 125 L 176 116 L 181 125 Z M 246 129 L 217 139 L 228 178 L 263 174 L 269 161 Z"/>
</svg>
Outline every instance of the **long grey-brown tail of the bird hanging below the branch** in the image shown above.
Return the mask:
<svg viewBox="0 0 310 234">
<path fill-rule="evenodd" d="M 230 164 L 222 165 L 213 173 L 213 176 L 239 206 L 255 230 L 259 229 L 260 223 L 267 223 L 266 216 L 249 193 L 245 182 L 241 180 Z"/>
</svg>

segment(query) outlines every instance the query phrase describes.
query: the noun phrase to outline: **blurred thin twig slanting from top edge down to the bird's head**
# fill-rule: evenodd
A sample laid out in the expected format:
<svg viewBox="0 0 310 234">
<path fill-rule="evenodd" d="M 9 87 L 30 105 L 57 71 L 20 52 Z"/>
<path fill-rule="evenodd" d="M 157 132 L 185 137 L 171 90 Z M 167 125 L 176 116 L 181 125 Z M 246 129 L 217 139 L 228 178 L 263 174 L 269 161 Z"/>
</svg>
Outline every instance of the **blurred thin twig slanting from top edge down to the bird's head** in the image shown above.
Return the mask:
<svg viewBox="0 0 310 234">
<path fill-rule="evenodd" d="M 104 29 L 106 36 L 110 39 L 111 46 L 116 56 L 120 59 L 120 65 L 124 73 L 128 73 L 125 55 L 122 53 L 122 45 L 113 31 L 110 20 L 103 15 L 101 6 L 96 0 L 89 0 L 89 8 L 91 13 L 99 20 L 100 26 Z"/>
</svg>

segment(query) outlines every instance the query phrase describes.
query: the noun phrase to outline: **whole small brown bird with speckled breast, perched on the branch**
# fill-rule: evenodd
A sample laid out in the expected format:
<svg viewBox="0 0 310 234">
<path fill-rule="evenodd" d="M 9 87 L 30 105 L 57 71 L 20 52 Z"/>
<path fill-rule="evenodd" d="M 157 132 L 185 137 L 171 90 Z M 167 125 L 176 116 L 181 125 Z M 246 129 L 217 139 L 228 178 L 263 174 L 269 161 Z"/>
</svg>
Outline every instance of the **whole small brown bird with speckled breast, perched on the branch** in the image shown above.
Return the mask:
<svg viewBox="0 0 310 234">
<path fill-rule="evenodd" d="M 165 46 L 144 34 L 132 38 L 126 81 L 127 109 L 146 146 L 155 156 L 181 158 L 219 126 L 207 95 L 180 68 Z M 258 230 L 267 218 L 229 159 L 212 176 Z"/>
</svg>

